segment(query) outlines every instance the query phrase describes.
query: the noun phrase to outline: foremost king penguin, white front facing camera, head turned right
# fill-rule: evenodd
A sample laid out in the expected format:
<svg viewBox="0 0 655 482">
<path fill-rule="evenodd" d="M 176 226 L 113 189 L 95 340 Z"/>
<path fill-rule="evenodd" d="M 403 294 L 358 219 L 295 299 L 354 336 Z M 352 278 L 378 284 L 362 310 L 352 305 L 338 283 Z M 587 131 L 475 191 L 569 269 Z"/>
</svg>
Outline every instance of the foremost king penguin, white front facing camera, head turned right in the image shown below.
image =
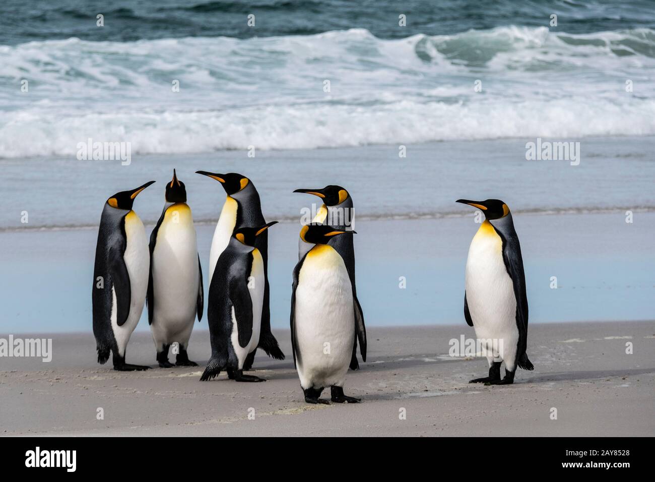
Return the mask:
<svg viewBox="0 0 655 482">
<path fill-rule="evenodd" d="M 360 312 L 356 310 L 346 264 L 329 245 L 335 236 L 354 233 L 325 224 L 309 224 L 300 231 L 303 241 L 314 246 L 293 270 L 291 346 L 307 403 L 328 403 L 320 399 L 328 386 L 333 402 L 360 401 L 343 393 Z M 364 338 L 360 343 L 364 360 L 365 347 Z"/>
</svg>

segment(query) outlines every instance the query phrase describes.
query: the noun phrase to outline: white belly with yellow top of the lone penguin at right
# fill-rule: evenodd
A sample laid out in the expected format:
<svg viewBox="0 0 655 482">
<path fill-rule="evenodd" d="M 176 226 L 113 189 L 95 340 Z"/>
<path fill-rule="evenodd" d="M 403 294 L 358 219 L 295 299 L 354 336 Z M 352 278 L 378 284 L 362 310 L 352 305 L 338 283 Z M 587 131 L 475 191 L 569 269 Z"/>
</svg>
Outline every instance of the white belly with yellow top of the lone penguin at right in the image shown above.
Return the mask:
<svg viewBox="0 0 655 482">
<path fill-rule="evenodd" d="M 519 339 L 514 284 L 502 258 L 502 239 L 488 221 L 468 251 L 466 301 L 477 338 L 495 342 L 500 358 L 513 367 Z"/>
</svg>

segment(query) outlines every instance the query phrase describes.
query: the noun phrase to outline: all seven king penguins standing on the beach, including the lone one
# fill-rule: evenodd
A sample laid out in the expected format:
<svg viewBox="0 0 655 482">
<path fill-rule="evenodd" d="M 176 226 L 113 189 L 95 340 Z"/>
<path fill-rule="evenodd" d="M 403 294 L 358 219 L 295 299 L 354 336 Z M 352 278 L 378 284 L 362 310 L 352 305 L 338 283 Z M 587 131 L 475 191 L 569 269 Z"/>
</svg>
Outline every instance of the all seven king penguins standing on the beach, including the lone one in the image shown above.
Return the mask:
<svg viewBox="0 0 655 482">
<path fill-rule="evenodd" d="M 227 372 L 237 382 L 263 382 L 244 374 L 255 351 L 284 359 L 271 332 L 268 229 L 259 193 L 246 176 L 196 171 L 219 182 L 227 197 L 210 250 L 207 318 L 212 355 L 201 381 Z M 149 242 L 134 199 L 155 181 L 121 191 L 105 202 L 94 266 L 93 331 L 98 362 L 111 352 L 118 371 L 149 367 L 125 362 L 130 335 L 147 304 L 157 362 L 162 368 L 197 366 L 187 354 L 195 319 L 202 319 L 204 289 L 191 209 L 185 184 L 173 171 L 165 203 Z M 357 348 L 366 361 L 364 313 L 357 299 L 352 230 L 352 197 L 341 186 L 298 189 L 316 195 L 322 206 L 299 233 L 298 263 L 291 291 L 291 350 L 307 403 L 329 387 L 331 401 L 357 403 L 343 392 L 348 369 L 359 368 Z M 508 206 L 498 199 L 469 201 L 485 215 L 466 262 L 464 318 L 479 340 L 502 340 L 487 353 L 489 376 L 471 382 L 511 384 L 516 367 L 532 370 L 526 353 L 528 306 L 519 239 Z M 176 363 L 169 350 L 177 343 Z M 505 362 L 505 376 L 500 365 Z"/>
</svg>

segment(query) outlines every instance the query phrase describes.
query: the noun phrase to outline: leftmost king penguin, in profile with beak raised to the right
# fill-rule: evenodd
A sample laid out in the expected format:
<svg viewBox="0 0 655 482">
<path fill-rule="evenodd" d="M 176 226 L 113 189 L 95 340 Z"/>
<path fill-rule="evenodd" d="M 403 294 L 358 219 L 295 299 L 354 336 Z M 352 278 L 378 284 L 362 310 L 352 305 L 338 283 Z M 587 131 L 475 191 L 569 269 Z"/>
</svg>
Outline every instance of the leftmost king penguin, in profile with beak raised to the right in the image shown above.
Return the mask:
<svg viewBox="0 0 655 482">
<path fill-rule="evenodd" d="M 150 267 L 145 228 L 132 205 L 153 182 L 107 199 L 98 229 L 91 297 L 93 333 L 98 363 L 105 363 L 111 351 L 114 369 L 119 371 L 149 368 L 125 363 L 125 351 L 141 318 Z"/>
</svg>

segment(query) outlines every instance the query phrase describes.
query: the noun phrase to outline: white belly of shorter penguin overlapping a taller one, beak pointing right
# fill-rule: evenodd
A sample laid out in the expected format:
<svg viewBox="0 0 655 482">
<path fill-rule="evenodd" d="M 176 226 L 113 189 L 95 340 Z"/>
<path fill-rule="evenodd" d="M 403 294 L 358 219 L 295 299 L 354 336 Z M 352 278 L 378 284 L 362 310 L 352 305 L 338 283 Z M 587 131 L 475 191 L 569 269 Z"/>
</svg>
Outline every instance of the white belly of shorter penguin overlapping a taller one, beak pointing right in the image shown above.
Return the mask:
<svg viewBox="0 0 655 482">
<path fill-rule="evenodd" d="M 234 317 L 234 308 L 232 308 L 232 347 L 236 358 L 239 362 L 239 369 L 243 369 L 244 362 L 249 353 L 257 349 L 259 344 L 259 333 L 261 332 L 261 311 L 264 306 L 264 260 L 258 249 L 252 251 L 252 268 L 250 269 L 250 279 L 248 281 L 250 292 L 250 300 L 252 301 L 252 336 L 246 346 L 242 347 L 239 344 L 239 331 Z"/>
</svg>

